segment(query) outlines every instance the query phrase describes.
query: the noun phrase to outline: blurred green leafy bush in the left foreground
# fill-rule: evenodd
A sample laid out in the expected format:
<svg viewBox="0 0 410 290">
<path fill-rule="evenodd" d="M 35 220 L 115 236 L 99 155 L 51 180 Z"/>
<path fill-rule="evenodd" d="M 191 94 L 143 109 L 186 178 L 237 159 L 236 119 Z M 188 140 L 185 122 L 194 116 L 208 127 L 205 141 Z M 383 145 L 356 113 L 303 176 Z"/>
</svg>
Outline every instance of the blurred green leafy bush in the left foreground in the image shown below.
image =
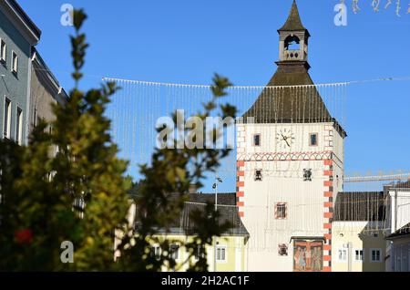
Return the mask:
<svg viewBox="0 0 410 290">
<path fill-rule="evenodd" d="M 161 238 L 159 229 L 169 229 L 178 219 L 190 185 L 200 188 L 206 172 L 216 171 L 229 154 L 223 149 L 157 149 L 151 165 L 140 167 L 141 181 L 132 183 L 126 176 L 128 162 L 118 159 L 118 147 L 109 135 L 110 120 L 104 116 L 109 98 L 119 88 L 113 82 L 87 92 L 78 87 L 88 47 L 80 32 L 86 19 L 82 10 L 75 11 L 71 46 L 76 85 L 67 104 L 53 106 L 56 119 L 41 121 L 27 146 L 0 141 L 0 271 L 174 269 L 172 241 Z M 233 117 L 234 107 L 217 105 L 231 83 L 215 75 L 213 84 L 213 98 L 197 116 L 206 119 L 219 109 L 220 117 Z M 210 134 L 216 142 L 220 129 Z M 175 193 L 178 197 L 170 198 Z M 130 198 L 137 207 L 135 228 L 127 220 Z M 190 256 L 230 227 L 220 224 L 219 216 L 211 204 L 191 213 L 196 230 L 185 244 Z M 121 241 L 117 263 L 116 237 Z M 73 264 L 60 260 L 64 241 L 74 244 Z M 159 243 L 159 257 L 150 254 L 151 243 Z M 206 254 L 190 264 L 190 271 L 207 270 Z"/>
</svg>

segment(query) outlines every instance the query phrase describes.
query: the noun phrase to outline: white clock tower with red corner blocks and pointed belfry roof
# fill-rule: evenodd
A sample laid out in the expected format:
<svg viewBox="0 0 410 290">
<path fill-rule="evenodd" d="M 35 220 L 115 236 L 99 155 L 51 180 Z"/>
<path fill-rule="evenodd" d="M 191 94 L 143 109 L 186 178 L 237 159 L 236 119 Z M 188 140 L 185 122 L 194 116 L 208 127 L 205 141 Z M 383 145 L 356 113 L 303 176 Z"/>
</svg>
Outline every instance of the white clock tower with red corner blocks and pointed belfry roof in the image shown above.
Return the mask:
<svg viewBox="0 0 410 290">
<path fill-rule="evenodd" d="M 329 272 L 346 132 L 309 75 L 310 34 L 296 2 L 278 33 L 277 71 L 237 125 L 237 197 L 250 233 L 248 270 Z"/>
</svg>

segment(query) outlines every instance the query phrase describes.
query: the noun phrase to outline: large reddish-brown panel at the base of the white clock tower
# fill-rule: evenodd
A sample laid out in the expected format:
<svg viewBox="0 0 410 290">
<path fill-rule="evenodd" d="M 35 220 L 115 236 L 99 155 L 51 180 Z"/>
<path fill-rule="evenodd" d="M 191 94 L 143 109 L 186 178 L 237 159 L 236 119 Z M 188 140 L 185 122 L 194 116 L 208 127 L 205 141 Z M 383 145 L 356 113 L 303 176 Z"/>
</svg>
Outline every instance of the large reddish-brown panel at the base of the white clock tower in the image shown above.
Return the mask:
<svg viewBox="0 0 410 290">
<path fill-rule="evenodd" d="M 323 241 L 295 240 L 293 251 L 293 271 L 323 271 Z"/>
</svg>

